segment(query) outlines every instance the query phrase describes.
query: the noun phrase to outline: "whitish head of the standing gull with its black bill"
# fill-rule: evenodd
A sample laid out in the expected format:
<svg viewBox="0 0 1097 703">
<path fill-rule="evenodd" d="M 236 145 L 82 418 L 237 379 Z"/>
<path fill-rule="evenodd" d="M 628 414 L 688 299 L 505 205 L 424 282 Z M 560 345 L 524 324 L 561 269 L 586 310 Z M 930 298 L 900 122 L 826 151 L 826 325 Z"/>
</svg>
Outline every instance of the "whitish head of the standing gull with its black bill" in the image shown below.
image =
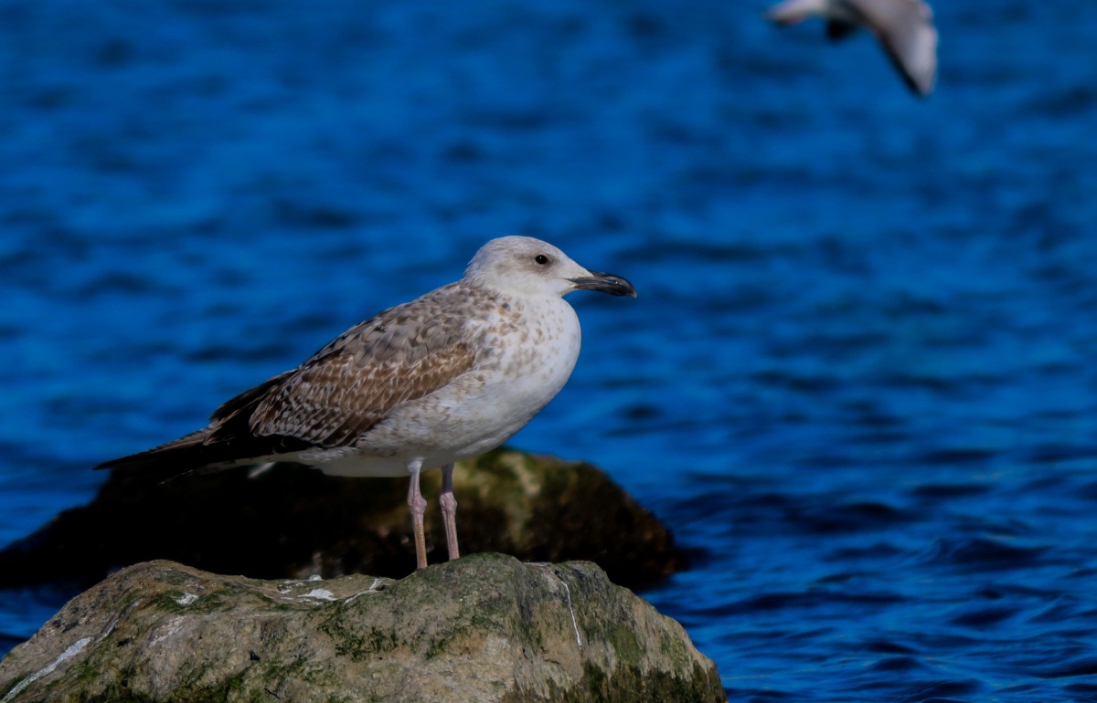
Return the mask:
<svg viewBox="0 0 1097 703">
<path fill-rule="evenodd" d="M 465 280 L 525 296 L 566 296 L 573 290 L 599 290 L 636 297 L 627 280 L 588 270 L 548 242 L 532 237 L 501 237 L 476 252 Z"/>
</svg>

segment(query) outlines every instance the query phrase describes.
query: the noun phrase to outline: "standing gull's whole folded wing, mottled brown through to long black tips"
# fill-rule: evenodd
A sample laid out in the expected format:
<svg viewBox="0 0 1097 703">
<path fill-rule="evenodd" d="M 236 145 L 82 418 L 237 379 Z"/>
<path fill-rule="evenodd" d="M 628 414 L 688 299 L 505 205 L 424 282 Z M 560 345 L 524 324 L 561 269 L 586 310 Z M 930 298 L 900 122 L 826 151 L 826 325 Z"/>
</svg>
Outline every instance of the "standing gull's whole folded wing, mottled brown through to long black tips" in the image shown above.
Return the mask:
<svg viewBox="0 0 1097 703">
<path fill-rule="evenodd" d="M 349 445 L 400 403 L 429 395 L 473 368 L 476 344 L 455 303 L 486 295 L 450 284 L 381 312 L 296 369 L 226 401 L 204 429 L 97 469 L 185 472 Z"/>
</svg>

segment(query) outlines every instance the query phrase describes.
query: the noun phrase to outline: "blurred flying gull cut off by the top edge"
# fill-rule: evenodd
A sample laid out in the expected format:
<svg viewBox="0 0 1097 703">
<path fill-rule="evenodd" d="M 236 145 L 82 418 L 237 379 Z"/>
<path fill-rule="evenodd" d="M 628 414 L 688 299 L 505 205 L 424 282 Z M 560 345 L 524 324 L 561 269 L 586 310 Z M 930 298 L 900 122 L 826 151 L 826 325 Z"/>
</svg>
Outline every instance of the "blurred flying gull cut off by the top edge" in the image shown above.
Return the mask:
<svg viewBox="0 0 1097 703">
<path fill-rule="evenodd" d="M 875 35 L 907 87 L 928 95 L 937 81 L 937 28 L 923 0 L 784 0 L 767 16 L 796 24 L 810 16 L 827 22 L 827 36 L 841 39 L 858 26 Z"/>
</svg>

